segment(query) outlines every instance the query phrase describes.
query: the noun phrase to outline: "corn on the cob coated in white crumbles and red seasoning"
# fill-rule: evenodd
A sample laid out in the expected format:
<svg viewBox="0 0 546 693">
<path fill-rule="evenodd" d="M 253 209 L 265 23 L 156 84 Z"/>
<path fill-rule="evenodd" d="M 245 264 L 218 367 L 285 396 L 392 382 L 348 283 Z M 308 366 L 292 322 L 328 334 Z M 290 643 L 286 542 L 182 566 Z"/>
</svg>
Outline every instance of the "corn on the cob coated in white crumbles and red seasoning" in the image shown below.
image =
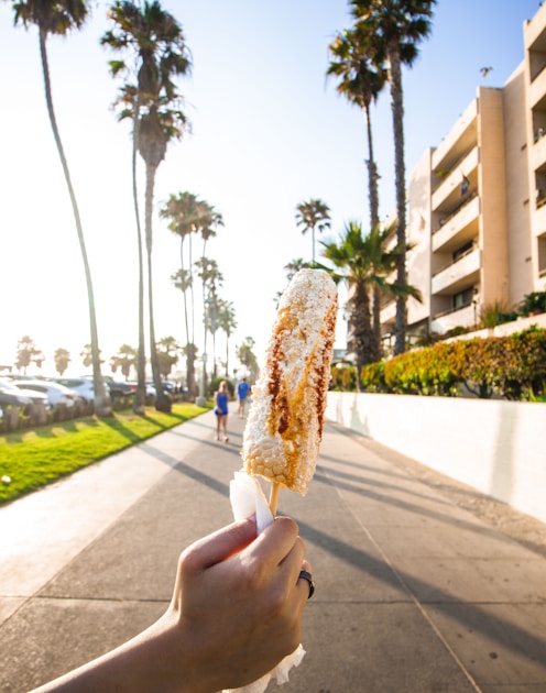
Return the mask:
<svg viewBox="0 0 546 693">
<path fill-rule="evenodd" d="M 305 495 L 323 435 L 337 290 L 323 270 L 301 270 L 283 294 L 252 388 L 242 458 L 250 474 Z"/>
</svg>

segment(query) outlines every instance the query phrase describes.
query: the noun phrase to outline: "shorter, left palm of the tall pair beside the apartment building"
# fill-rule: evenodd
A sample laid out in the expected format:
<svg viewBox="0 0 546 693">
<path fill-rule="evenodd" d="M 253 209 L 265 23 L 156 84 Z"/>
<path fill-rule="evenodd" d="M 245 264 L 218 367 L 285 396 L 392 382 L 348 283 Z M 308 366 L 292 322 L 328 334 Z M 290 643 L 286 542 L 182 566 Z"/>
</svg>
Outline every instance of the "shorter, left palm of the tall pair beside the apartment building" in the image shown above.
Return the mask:
<svg viewBox="0 0 546 693">
<path fill-rule="evenodd" d="M 370 228 L 379 224 L 378 166 L 373 155 L 373 136 L 370 107 L 386 84 L 386 72 L 374 66 L 367 54 L 364 38 L 357 29 L 346 30 L 329 46 L 332 59 L 327 75 L 339 77 L 337 91 L 364 111 L 368 135 L 368 197 L 370 201 Z"/>
</svg>

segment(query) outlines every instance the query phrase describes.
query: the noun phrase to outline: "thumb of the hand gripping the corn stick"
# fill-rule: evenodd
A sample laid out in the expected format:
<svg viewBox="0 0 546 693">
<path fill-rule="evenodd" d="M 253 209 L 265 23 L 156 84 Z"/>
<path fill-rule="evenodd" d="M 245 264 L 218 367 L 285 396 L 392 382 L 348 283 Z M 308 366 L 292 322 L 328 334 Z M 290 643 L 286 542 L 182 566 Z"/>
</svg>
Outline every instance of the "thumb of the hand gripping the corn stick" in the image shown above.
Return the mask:
<svg viewBox="0 0 546 693">
<path fill-rule="evenodd" d="M 186 574 L 200 573 L 216 563 L 238 553 L 255 539 L 256 526 L 252 519 L 232 522 L 199 539 L 181 556 Z"/>
</svg>

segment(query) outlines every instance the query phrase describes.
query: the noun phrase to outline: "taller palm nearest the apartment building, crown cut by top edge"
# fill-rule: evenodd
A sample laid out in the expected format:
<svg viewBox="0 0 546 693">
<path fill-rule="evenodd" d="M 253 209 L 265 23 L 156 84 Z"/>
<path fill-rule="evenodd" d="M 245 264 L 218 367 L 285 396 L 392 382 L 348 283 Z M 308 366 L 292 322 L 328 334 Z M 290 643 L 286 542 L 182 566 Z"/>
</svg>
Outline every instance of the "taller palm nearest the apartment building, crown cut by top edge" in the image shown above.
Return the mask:
<svg viewBox="0 0 546 693">
<path fill-rule="evenodd" d="M 396 283 L 406 284 L 406 182 L 404 164 L 404 103 L 402 64 L 411 66 L 417 57 L 417 44 L 430 33 L 436 0 L 351 0 L 352 14 L 361 36 L 374 51 L 372 59 L 386 61 L 391 87 L 394 133 L 394 174 L 396 188 L 396 239 L 402 249 L 396 268 Z M 405 351 L 406 300 L 396 298 L 394 353 Z"/>
</svg>

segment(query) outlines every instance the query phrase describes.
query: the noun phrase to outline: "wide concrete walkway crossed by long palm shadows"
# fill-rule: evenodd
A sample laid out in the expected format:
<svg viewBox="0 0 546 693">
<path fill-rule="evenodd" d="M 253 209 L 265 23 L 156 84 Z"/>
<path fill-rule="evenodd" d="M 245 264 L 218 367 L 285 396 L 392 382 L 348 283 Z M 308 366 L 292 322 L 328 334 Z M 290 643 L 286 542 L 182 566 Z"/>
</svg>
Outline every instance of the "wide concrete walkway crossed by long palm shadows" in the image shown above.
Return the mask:
<svg viewBox="0 0 546 693">
<path fill-rule="evenodd" d="M 163 613 L 181 550 L 231 520 L 242 421 L 230 417 L 229 443 L 214 426 L 208 413 L 0 508 L 0 691 L 29 691 Z M 283 491 L 280 512 L 317 583 L 307 656 L 282 691 L 546 691 L 546 559 L 396 453 L 327 426 L 309 493 Z"/>
</svg>

